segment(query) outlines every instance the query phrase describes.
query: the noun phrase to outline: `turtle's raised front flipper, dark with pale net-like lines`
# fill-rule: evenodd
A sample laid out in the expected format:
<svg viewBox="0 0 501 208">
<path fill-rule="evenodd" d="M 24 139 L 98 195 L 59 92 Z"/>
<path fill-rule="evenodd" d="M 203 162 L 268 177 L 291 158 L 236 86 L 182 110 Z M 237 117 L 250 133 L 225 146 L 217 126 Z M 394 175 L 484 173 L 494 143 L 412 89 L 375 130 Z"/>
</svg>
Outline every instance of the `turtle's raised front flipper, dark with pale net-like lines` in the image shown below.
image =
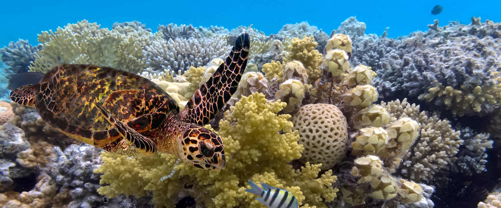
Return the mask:
<svg viewBox="0 0 501 208">
<path fill-rule="evenodd" d="M 250 39 L 247 33 L 240 35 L 228 57 L 200 89 L 186 103 L 185 122 L 203 126 L 209 123 L 231 95 L 235 93 L 243 70 L 247 65 Z"/>
</svg>

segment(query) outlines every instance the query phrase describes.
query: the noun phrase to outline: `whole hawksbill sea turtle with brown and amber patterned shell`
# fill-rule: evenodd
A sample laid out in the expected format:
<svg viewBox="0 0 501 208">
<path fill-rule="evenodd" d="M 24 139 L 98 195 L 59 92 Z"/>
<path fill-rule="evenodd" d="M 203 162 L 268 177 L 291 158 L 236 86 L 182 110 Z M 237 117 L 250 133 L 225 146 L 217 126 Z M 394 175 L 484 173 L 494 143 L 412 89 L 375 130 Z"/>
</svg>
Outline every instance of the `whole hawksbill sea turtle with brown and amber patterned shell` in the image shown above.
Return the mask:
<svg viewBox="0 0 501 208">
<path fill-rule="evenodd" d="M 203 128 L 236 91 L 247 64 L 249 35 L 240 35 L 228 57 L 196 90 L 184 109 L 158 85 L 111 67 L 64 64 L 38 84 L 11 92 L 36 108 L 47 125 L 111 153 L 148 157 L 176 155 L 204 170 L 224 169 L 221 138 Z"/>
</svg>

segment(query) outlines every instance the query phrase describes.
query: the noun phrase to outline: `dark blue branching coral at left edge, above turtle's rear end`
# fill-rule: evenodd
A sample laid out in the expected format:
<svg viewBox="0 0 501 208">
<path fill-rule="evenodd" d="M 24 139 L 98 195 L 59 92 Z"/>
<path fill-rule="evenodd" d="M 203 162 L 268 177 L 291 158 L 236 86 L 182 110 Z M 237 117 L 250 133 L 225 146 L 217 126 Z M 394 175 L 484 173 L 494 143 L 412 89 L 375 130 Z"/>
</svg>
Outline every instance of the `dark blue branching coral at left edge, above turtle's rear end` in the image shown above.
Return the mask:
<svg viewBox="0 0 501 208">
<path fill-rule="evenodd" d="M 42 50 L 42 44 L 32 46 L 28 40 L 19 39 L 17 42 L 10 42 L 8 46 L 0 48 L 0 57 L 5 65 L 10 66 L 4 70 L 7 74 L 27 72 L 28 65 L 35 60 L 35 54 Z"/>
</svg>

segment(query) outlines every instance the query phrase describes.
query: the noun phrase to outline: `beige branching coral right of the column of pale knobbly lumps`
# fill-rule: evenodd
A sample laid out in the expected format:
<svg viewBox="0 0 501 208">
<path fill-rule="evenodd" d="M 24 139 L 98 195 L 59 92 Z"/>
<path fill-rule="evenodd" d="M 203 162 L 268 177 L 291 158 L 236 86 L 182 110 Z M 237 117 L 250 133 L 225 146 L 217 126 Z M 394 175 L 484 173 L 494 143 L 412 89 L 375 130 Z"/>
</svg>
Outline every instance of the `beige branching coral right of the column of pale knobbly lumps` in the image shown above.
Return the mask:
<svg viewBox="0 0 501 208">
<path fill-rule="evenodd" d="M 402 157 L 398 170 L 415 181 L 429 180 L 440 169 L 455 161 L 458 148 L 463 144 L 461 133 L 452 129 L 449 121 L 419 111 L 419 105 L 409 104 L 406 99 L 384 103 L 381 106 L 390 113 L 390 122 L 409 117 L 420 124 L 421 134 L 410 151 Z"/>
</svg>

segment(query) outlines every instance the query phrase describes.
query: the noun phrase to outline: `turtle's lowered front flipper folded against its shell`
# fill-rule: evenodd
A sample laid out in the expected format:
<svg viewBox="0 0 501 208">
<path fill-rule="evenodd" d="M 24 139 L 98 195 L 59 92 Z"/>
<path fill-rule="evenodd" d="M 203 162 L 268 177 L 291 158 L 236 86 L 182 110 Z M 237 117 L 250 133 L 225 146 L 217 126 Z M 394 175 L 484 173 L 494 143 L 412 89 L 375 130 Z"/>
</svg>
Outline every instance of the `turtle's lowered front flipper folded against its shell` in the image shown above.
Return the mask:
<svg viewBox="0 0 501 208">
<path fill-rule="evenodd" d="M 108 120 L 108 122 L 110 122 L 110 124 L 118 130 L 118 133 L 122 136 L 122 138 L 125 139 L 117 140 L 115 143 L 105 145 L 103 149 L 111 149 L 110 152 L 123 155 L 142 157 L 149 157 L 156 153 L 156 145 L 151 139 L 139 134 L 136 130 L 117 120 L 98 102 L 95 102 L 95 104 L 106 120 Z"/>
</svg>

